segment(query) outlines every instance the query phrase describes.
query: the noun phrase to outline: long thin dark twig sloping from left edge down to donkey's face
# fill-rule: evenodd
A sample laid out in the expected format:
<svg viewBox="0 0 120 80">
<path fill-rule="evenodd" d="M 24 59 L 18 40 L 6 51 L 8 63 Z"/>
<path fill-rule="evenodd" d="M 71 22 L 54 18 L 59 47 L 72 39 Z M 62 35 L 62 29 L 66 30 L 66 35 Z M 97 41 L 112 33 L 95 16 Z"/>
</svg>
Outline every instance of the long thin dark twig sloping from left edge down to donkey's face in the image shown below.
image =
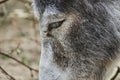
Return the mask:
<svg viewBox="0 0 120 80">
<path fill-rule="evenodd" d="M 12 56 L 6 54 L 6 53 L 0 52 L 0 55 L 6 56 L 6 57 L 8 57 L 8 58 L 10 58 L 10 59 L 12 59 L 12 60 L 14 60 L 14 61 L 20 63 L 21 65 L 25 66 L 25 67 L 28 68 L 30 71 L 32 70 L 32 71 L 35 71 L 35 72 L 38 73 L 38 70 L 29 67 L 28 65 L 22 63 L 21 61 L 17 60 L 16 58 L 14 58 L 14 57 L 12 57 Z"/>
</svg>

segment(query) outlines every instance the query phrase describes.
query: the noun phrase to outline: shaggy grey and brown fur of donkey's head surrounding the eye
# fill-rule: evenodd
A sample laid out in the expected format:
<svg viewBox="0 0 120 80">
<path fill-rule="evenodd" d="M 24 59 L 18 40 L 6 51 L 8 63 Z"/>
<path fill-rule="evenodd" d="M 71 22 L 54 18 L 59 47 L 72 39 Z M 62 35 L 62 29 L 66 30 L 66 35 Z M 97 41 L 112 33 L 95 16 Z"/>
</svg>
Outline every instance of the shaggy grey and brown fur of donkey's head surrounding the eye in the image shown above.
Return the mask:
<svg viewBox="0 0 120 80">
<path fill-rule="evenodd" d="M 107 72 L 120 58 L 120 0 L 33 4 L 40 20 L 40 80 L 110 80 Z M 49 24 L 63 19 L 49 30 Z"/>
</svg>

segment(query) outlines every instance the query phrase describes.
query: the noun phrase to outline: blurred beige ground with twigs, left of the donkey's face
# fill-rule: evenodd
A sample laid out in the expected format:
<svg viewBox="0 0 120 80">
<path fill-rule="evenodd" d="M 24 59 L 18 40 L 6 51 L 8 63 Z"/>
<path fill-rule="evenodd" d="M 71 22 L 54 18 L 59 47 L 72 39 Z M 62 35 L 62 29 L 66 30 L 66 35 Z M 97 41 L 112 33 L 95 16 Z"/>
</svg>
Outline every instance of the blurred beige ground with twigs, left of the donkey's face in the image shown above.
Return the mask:
<svg viewBox="0 0 120 80">
<path fill-rule="evenodd" d="M 31 1 L 0 3 L 0 80 L 38 80 L 39 56 L 39 27 Z"/>
</svg>

